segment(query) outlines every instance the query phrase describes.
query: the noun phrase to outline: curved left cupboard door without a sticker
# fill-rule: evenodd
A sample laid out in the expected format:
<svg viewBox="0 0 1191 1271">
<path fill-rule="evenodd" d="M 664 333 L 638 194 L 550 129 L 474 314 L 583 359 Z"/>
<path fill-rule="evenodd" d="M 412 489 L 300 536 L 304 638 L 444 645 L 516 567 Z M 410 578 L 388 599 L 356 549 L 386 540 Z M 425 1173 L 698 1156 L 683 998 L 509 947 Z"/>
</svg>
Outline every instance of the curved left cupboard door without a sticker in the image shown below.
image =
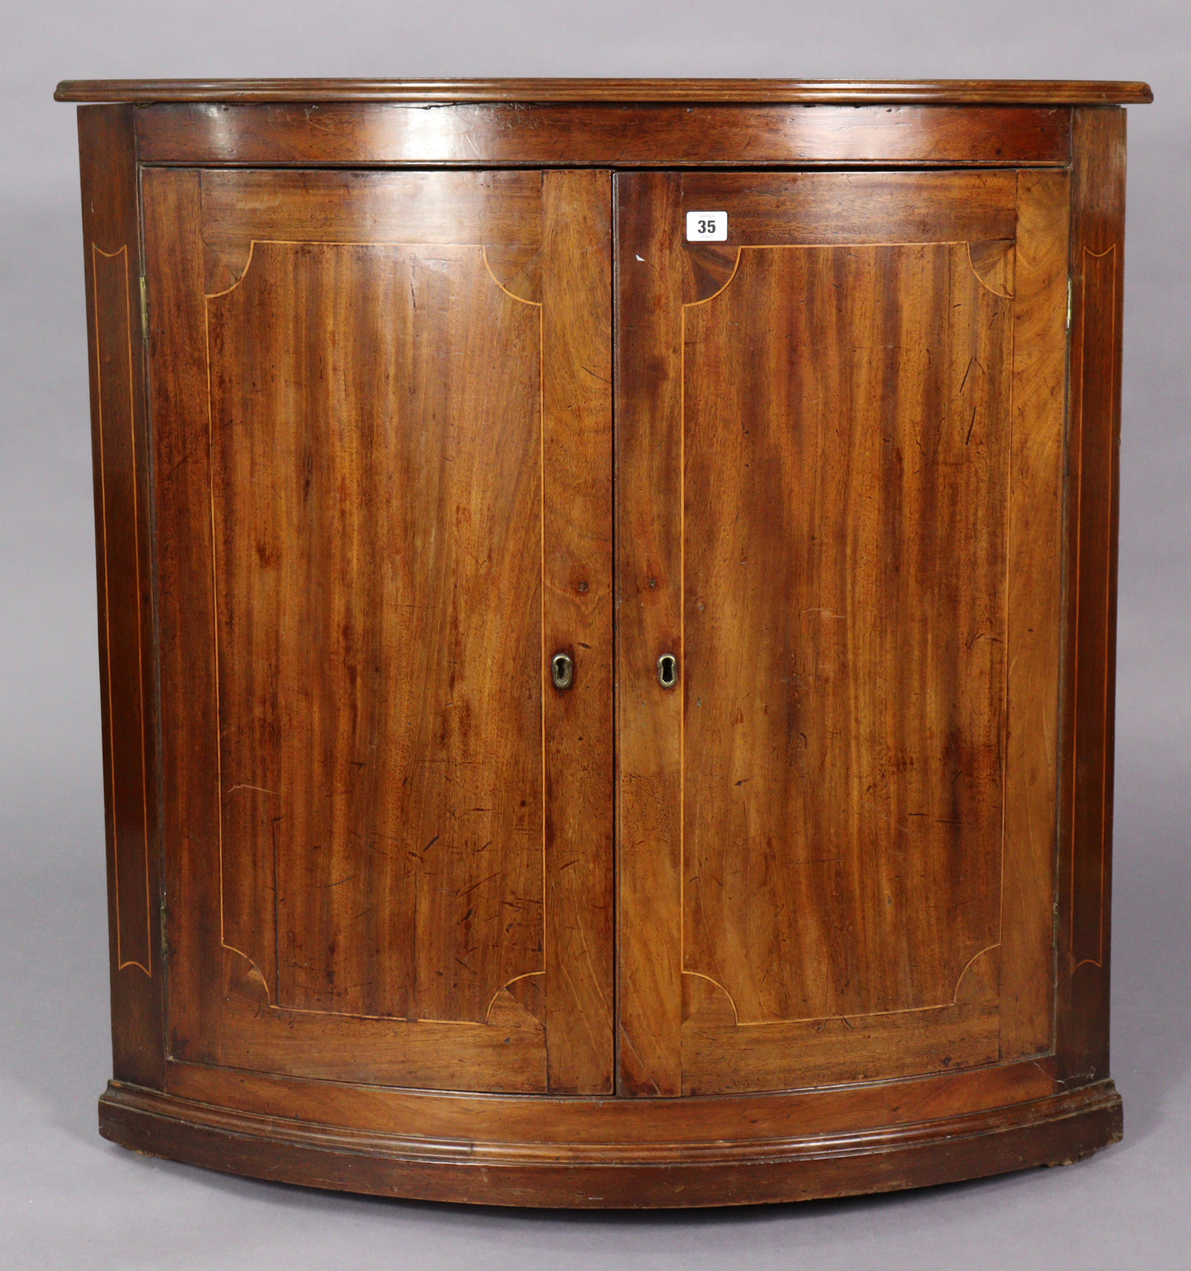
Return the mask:
<svg viewBox="0 0 1191 1271">
<path fill-rule="evenodd" d="M 610 1092 L 609 174 L 142 202 L 170 1059 Z"/>
</svg>

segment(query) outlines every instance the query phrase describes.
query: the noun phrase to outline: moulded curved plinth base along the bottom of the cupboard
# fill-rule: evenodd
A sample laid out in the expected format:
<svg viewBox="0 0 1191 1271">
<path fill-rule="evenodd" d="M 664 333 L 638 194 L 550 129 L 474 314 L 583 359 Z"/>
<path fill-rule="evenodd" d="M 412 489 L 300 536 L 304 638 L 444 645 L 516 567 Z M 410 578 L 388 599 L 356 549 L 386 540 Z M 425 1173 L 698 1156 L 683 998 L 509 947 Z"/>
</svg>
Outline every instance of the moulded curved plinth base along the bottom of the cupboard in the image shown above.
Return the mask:
<svg viewBox="0 0 1191 1271">
<path fill-rule="evenodd" d="M 894 1191 L 1068 1164 L 1120 1139 L 1121 1101 L 1102 1082 L 905 1131 L 624 1153 L 358 1134 L 109 1087 L 100 1132 L 149 1155 L 314 1187 L 472 1204 L 656 1209 Z"/>
</svg>

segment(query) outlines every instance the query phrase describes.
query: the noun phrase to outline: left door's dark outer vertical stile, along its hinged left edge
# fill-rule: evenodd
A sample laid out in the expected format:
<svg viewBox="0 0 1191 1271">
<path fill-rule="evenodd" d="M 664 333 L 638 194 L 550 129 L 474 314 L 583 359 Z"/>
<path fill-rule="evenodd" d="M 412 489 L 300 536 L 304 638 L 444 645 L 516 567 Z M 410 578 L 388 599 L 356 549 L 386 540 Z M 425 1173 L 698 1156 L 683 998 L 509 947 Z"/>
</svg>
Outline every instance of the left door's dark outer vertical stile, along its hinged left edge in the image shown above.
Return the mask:
<svg viewBox="0 0 1191 1271">
<path fill-rule="evenodd" d="M 220 791 L 211 596 L 206 305 L 198 173 L 145 172 L 149 417 L 161 694 L 163 904 L 168 1054 L 184 1054 L 224 985 L 217 892 Z M 216 902 L 212 904 L 212 900 Z M 205 1010 L 206 1008 L 206 1010 Z"/>
</svg>

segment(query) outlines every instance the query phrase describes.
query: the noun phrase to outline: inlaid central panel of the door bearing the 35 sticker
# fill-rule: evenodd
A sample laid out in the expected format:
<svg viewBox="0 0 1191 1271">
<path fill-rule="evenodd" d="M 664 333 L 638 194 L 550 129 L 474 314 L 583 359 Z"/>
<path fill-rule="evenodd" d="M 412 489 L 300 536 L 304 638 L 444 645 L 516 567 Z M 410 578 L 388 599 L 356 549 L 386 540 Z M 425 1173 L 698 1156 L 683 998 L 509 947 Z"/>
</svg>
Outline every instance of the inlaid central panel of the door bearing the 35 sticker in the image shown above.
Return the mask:
<svg viewBox="0 0 1191 1271">
<path fill-rule="evenodd" d="M 966 244 L 746 248 L 685 310 L 684 970 L 741 1024 L 998 943 L 1009 319 Z"/>
</svg>

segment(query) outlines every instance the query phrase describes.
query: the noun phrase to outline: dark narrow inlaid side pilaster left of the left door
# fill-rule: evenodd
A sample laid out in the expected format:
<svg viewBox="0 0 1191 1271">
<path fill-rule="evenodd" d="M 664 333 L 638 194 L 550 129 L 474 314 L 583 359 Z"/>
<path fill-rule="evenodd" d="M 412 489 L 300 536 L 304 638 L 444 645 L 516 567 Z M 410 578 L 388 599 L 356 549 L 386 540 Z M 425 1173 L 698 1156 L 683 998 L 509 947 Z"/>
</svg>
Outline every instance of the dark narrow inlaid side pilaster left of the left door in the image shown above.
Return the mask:
<svg viewBox="0 0 1191 1271">
<path fill-rule="evenodd" d="M 149 447 L 132 107 L 79 111 L 95 479 L 112 1047 L 118 1079 L 163 1073 Z"/>
</svg>

